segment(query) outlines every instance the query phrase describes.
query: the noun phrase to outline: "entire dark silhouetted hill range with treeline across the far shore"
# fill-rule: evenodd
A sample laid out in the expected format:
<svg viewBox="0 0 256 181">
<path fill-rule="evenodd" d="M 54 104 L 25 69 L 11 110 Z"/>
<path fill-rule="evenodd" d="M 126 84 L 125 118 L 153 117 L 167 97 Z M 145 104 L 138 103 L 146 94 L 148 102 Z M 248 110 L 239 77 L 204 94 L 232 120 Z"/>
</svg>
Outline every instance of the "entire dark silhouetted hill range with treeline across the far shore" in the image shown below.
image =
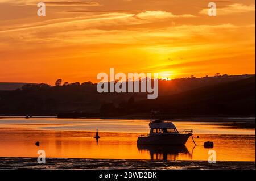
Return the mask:
<svg viewBox="0 0 256 181">
<path fill-rule="evenodd" d="M 154 109 L 165 118 L 255 116 L 255 75 L 162 80 L 157 99 L 146 99 L 147 93 L 100 94 L 96 87 L 92 82 L 59 86 L 40 83 L 0 91 L 0 114 L 142 118 L 139 115 L 150 115 Z"/>
</svg>

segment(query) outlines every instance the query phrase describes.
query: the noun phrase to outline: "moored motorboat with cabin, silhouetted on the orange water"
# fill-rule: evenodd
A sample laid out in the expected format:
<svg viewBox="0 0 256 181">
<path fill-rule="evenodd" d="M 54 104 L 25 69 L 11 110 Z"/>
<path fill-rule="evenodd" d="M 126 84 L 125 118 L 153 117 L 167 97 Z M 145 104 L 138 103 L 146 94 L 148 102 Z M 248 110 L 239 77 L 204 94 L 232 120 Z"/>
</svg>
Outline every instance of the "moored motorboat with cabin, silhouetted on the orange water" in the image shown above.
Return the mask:
<svg viewBox="0 0 256 181">
<path fill-rule="evenodd" d="M 149 124 L 150 133 L 140 135 L 138 145 L 185 145 L 193 130 L 177 131 L 172 121 L 154 120 Z"/>
</svg>

